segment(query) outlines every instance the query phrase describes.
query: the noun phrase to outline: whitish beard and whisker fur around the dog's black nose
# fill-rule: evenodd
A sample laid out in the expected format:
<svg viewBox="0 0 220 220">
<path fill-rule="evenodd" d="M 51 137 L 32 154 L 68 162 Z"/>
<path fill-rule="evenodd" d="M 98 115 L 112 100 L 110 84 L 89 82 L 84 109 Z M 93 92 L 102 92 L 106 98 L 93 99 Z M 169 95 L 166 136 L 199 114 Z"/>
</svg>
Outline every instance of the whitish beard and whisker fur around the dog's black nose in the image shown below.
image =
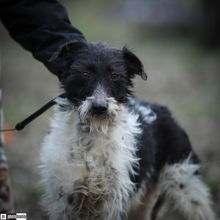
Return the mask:
<svg viewBox="0 0 220 220">
<path fill-rule="evenodd" d="M 90 132 L 102 132 L 107 136 L 109 124 L 111 124 L 118 115 L 119 105 L 114 98 L 106 98 L 108 109 L 103 115 L 92 114 L 91 107 L 94 97 L 89 97 L 78 108 L 79 118 L 82 123 L 89 126 Z"/>
</svg>

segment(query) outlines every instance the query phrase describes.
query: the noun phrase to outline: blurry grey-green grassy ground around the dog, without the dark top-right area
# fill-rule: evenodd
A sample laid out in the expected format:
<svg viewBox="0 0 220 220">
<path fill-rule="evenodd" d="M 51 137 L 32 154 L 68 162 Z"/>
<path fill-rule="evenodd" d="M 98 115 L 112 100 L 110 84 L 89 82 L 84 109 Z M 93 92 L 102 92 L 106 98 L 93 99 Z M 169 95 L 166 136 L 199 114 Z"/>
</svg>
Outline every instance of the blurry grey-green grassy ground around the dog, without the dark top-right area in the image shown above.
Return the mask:
<svg viewBox="0 0 220 220">
<path fill-rule="evenodd" d="M 220 214 L 220 53 L 205 51 L 187 36 L 152 37 L 123 18 L 110 1 L 64 1 L 72 24 L 88 41 L 128 45 L 143 61 L 148 81 L 135 80 L 140 99 L 169 106 L 186 129 L 203 164 Z M 59 82 L 0 26 L 1 84 L 5 122 L 14 126 L 60 94 Z M 6 146 L 17 212 L 44 219 L 39 206 L 42 189 L 39 149 L 48 130 L 49 110 Z M 45 218 L 46 219 L 46 218 Z"/>
</svg>

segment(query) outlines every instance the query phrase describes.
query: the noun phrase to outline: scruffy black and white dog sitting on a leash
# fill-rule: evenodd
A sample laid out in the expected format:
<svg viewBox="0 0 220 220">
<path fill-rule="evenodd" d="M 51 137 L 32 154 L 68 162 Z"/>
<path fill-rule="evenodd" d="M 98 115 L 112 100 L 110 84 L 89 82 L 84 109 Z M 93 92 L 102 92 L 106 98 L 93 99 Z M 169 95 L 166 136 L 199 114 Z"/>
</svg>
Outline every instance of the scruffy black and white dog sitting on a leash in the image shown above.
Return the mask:
<svg viewBox="0 0 220 220">
<path fill-rule="evenodd" d="M 41 161 L 51 220 L 214 220 L 199 160 L 169 110 L 139 101 L 126 47 L 73 41 Z"/>
</svg>

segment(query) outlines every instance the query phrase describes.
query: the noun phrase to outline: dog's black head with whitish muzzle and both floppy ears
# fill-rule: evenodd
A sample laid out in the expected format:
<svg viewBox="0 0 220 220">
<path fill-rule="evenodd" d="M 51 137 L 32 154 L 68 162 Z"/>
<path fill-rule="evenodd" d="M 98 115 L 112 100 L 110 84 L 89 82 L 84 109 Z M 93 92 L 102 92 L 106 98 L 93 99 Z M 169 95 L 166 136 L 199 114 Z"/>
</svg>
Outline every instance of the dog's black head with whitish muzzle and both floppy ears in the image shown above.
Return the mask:
<svg viewBox="0 0 220 220">
<path fill-rule="evenodd" d="M 73 41 L 62 45 L 52 60 L 57 57 L 67 62 L 60 77 L 67 98 L 80 119 L 96 127 L 114 120 L 132 95 L 136 75 L 147 79 L 141 61 L 126 47 L 120 50 L 103 42 Z"/>
</svg>

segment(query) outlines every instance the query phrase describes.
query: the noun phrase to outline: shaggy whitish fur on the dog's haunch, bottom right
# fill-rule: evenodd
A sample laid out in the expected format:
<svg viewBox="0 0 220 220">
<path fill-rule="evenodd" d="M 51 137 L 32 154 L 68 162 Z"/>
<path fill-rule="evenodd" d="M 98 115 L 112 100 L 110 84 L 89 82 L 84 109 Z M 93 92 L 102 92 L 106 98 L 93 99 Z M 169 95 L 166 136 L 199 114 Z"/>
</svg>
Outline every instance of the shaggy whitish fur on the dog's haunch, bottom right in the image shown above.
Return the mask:
<svg viewBox="0 0 220 220">
<path fill-rule="evenodd" d="M 182 163 L 165 166 L 159 185 L 166 198 L 164 212 L 187 220 L 215 220 L 209 189 L 198 175 L 200 165 L 190 157 Z M 163 219 L 164 216 L 161 217 Z"/>
</svg>

